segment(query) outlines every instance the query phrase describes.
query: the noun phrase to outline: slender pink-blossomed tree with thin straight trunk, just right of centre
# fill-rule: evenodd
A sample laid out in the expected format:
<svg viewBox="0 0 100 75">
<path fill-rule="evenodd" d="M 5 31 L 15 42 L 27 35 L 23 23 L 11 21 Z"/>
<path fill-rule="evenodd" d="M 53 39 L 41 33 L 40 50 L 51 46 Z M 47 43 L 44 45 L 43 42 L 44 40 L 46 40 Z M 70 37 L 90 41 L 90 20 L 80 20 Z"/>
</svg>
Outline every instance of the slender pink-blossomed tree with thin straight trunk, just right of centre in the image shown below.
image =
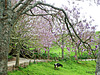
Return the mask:
<svg viewBox="0 0 100 75">
<path fill-rule="evenodd" d="M 68 33 L 67 32 L 67 29 L 65 28 L 65 25 L 63 24 L 60 24 L 60 23 L 56 23 L 55 24 L 55 30 L 53 30 L 53 34 L 55 36 L 55 41 L 54 43 L 56 45 L 58 45 L 61 50 L 62 50 L 62 59 L 64 59 L 64 46 L 65 46 L 65 40 L 67 40 L 67 36 L 68 36 Z"/>
</svg>

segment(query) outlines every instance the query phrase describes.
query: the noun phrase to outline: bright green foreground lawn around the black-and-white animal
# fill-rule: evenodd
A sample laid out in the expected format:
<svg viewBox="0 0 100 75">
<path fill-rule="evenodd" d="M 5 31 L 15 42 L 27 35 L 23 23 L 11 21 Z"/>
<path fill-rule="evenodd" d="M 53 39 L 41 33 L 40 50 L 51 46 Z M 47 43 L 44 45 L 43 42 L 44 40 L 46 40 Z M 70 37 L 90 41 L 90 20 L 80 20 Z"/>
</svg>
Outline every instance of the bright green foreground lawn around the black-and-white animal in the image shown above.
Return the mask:
<svg viewBox="0 0 100 75">
<path fill-rule="evenodd" d="M 40 62 L 27 68 L 20 68 L 19 71 L 8 72 L 8 75 L 95 75 L 94 61 L 80 61 L 80 64 L 73 61 L 58 62 L 63 64 L 63 67 L 56 70 L 54 69 L 56 62 Z"/>
</svg>

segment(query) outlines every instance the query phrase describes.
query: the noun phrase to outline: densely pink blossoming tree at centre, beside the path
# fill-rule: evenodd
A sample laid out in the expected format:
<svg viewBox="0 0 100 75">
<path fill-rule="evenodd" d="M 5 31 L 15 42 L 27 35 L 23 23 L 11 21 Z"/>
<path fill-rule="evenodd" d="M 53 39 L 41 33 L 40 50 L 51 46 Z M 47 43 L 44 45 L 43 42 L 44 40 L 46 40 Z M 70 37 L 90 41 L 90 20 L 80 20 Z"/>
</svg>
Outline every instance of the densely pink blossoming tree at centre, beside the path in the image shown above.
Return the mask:
<svg viewBox="0 0 100 75">
<path fill-rule="evenodd" d="M 46 17 L 49 19 L 49 17 Z M 49 58 L 49 51 L 50 51 L 50 47 L 54 41 L 54 35 L 52 33 L 52 28 L 50 26 L 49 21 L 47 21 L 46 19 L 44 19 L 43 17 L 39 18 L 40 21 L 38 21 L 38 25 L 37 28 L 38 32 L 38 43 L 40 45 L 42 45 L 41 48 L 45 48 L 45 53 L 48 52 L 48 58 Z M 39 46 L 38 46 L 39 47 Z M 39 47 L 39 48 L 40 48 Z"/>
</svg>

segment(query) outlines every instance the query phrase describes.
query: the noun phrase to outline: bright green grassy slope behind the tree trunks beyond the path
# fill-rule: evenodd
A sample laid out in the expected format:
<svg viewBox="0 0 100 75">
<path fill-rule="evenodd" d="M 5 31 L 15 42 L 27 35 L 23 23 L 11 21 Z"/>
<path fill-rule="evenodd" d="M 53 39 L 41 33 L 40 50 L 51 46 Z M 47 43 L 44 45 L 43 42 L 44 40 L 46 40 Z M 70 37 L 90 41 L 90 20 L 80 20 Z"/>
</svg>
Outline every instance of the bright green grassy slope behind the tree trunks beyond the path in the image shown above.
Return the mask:
<svg viewBox="0 0 100 75">
<path fill-rule="evenodd" d="M 73 50 L 73 49 L 71 49 L 71 50 Z M 69 52 L 66 48 L 64 48 L 64 57 L 65 58 L 66 57 L 73 57 L 75 55 L 75 52 L 72 52 L 71 50 Z M 45 54 L 45 50 L 42 49 L 41 50 L 41 55 L 42 56 L 45 55 L 45 57 L 47 57 L 48 51 Z M 82 55 L 80 53 L 80 55 L 78 54 L 77 56 L 78 56 L 79 59 L 92 59 L 92 58 L 94 59 L 94 56 L 93 55 L 88 55 L 87 51 L 83 52 Z M 58 47 L 58 46 L 52 46 L 50 48 L 50 57 L 53 58 L 53 59 L 55 57 L 61 58 L 62 57 L 62 50 L 61 50 L 61 48 Z"/>
</svg>

